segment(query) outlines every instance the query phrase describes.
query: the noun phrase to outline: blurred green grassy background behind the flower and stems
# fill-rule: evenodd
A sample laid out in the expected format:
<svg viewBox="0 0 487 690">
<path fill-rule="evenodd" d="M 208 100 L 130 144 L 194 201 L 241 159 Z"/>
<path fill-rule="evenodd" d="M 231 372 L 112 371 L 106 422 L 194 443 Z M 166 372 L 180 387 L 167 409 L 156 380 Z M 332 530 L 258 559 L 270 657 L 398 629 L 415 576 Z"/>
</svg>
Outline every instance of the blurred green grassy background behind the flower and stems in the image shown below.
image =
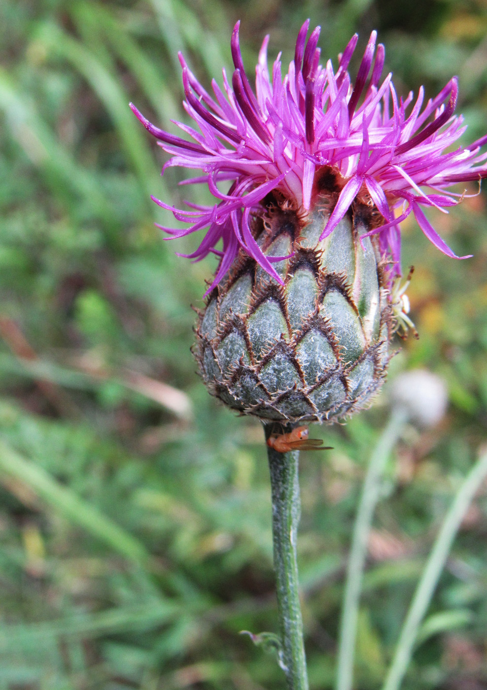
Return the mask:
<svg viewBox="0 0 487 690">
<path fill-rule="evenodd" d="M 201 306 L 215 261 L 175 257 L 197 238 L 166 243 L 154 228 L 170 219 L 149 195 L 179 204 L 179 173 L 159 177 L 165 158 L 128 101 L 172 128 L 184 117 L 177 50 L 208 88 L 230 66 L 237 19 L 252 75 L 264 34 L 286 65 L 306 17 L 335 64 L 355 30 L 363 48 L 377 28 L 399 94 L 424 83 L 430 97 L 459 75 L 464 143 L 486 132 L 483 0 L 0 3 L 0 690 L 283 687 L 275 660 L 238 634 L 277 625 L 263 433 L 195 373 L 190 304 Z M 388 468 L 360 690 L 384 678 L 441 517 L 487 436 L 484 193 L 435 226 L 475 257 L 448 259 L 404 226 L 420 339 L 397 342 L 390 381 L 430 368 L 450 407 L 435 430 L 408 428 Z M 302 458 L 316 690 L 332 687 L 352 520 L 386 391 L 346 426 L 313 428 L 335 450 Z M 405 689 L 487 687 L 486 496 L 464 520 Z"/>
</svg>

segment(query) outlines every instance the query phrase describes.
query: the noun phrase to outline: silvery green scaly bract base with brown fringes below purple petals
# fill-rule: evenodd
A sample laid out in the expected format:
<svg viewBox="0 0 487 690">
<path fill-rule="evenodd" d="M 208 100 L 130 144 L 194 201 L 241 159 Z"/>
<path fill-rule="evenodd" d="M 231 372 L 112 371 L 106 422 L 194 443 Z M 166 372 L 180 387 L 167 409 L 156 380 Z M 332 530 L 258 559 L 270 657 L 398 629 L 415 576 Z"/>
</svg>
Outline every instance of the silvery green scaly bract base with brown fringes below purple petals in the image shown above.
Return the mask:
<svg viewBox="0 0 487 690">
<path fill-rule="evenodd" d="M 331 189 L 317 195 L 303 222 L 282 199 L 268 199 L 257 243 L 266 257 L 292 250 L 275 264 L 282 285 L 241 252 L 199 315 L 203 380 L 242 413 L 333 422 L 362 408 L 384 379 L 386 272 L 376 238 L 359 242 L 370 209 L 356 202 L 320 240 L 332 201 Z"/>
</svg>

